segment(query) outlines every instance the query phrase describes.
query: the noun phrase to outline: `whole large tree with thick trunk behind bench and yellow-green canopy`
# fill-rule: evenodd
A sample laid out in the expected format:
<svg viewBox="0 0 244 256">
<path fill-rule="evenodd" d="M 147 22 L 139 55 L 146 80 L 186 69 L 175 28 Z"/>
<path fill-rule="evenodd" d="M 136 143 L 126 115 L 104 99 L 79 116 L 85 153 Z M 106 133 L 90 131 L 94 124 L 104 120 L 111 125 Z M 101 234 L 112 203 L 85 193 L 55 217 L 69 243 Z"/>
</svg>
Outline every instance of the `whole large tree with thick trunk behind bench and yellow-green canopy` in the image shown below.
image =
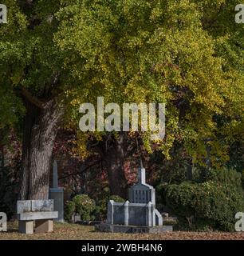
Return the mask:
<svg viewBox="0 0 244 256">
<path fill-rule="evenodd" d="M 164 154 L 180 139 L 201 160 L 208 141 L 215 157 L 224 159 L 216 117 L 242 123 L 243 33 L 234 23 L 236 1 L 5 3 L 0 83 L 10 99 L 1 106 L 11 116 L 26 110 L 21 198 L 47 198 L 58 126 L 67 118 L 77 125 L 78 106 L 96 103 L 97 96 L 119 104 L 165 102 L 167 134 L 158 143 Z M 148 134 L 142 135 L 150 150 Z M 115 153 L 108 168 L 121 178 L 123 150 Z"/>
</svg>

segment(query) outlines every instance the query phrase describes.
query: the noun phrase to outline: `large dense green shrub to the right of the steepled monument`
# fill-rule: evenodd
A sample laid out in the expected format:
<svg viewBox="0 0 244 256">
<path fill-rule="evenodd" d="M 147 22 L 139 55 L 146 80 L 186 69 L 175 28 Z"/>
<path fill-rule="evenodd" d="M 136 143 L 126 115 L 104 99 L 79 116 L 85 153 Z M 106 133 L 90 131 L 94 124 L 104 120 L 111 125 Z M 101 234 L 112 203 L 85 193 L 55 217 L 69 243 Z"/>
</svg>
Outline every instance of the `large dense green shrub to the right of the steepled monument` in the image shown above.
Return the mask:
<svg viewBox="0 0 244 256">
<path fill-rule="evenodd" d="M 187 219 L 191 229 L 233 231 L 234 215 L 244 211 L 241 175 L 234 170 L 212 170 L 207 177 L 202 183 L 167 186 L 167 207 Z"/>
</svg>

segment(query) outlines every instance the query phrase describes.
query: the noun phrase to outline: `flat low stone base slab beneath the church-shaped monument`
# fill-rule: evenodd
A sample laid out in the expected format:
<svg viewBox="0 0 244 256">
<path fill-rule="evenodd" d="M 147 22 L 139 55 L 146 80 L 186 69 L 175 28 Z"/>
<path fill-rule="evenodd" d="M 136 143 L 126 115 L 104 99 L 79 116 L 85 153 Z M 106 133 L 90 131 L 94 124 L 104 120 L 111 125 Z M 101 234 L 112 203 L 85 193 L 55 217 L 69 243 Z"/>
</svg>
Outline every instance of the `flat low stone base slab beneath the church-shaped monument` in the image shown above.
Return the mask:
<svg viewBox="0 0 244 256">
<path fill-rule="evenodd" d="M 172 232 L 173 226 L 125 226 L 112 224 L 96 224 L 95 231 L 107 233 L 163 233 Z"/>
</svg>

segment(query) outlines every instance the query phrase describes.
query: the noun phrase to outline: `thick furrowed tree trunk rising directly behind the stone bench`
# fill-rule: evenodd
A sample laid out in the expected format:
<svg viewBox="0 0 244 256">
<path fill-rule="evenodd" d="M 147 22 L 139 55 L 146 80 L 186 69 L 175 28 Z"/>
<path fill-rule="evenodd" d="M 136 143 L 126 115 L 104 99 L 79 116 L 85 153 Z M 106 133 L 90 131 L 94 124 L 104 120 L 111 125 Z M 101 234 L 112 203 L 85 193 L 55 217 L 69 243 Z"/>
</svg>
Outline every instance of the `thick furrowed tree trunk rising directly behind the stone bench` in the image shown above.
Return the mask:
<svg viewBox="0 0 244 256">
<path fill-rule="evenodd" d="M 20 199 L 47 199 L 49 170 L 63 111 L 54 100 L 35 106 L 26 100 Z"/>
</svg>

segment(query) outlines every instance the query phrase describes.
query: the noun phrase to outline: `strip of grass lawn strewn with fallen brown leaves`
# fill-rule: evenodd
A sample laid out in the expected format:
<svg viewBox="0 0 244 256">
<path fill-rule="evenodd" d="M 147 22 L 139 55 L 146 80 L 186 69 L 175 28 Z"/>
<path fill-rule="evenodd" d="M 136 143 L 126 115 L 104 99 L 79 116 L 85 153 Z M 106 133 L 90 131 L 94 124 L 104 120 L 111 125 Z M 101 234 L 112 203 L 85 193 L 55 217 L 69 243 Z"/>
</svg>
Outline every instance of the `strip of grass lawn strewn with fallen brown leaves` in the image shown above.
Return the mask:
<svg viewBox="0 0 244 256">
<path fill-rule="evenodd" d="M 32 240 L 73 240 L 73 239 L 238 239 L 244 240 L 244 232 L 222 233 L 222 232 L 166 232 L 163 234 L 111 234 L 94 232 L 93 226 L 81 226 L 79 224 L 54 223 L 53 233 L 46 234 L 19 234 L 18 222 L 8 223 L 8 232 L 0 233 L 0 240 L 8 239 L 32 239 Z"/>
</svg>

